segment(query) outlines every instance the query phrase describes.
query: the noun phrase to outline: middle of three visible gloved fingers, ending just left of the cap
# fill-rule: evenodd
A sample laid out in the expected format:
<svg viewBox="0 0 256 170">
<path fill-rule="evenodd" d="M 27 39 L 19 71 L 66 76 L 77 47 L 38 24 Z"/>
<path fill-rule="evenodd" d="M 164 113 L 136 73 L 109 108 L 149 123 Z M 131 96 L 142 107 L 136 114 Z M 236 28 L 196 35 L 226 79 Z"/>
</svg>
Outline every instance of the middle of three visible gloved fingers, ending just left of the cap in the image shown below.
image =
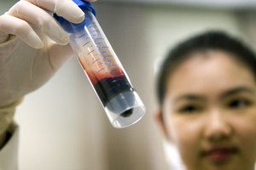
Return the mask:
<svg viewBox="0 0 256 170">
<path fill-rule="evenodd" d="M 13 8 L 10 8 L 8 14 L 26 20 L 34 27 L 44 32 L 49 38 L 55 42 L 66 45 L 69 41 L 69 36 L 55 19 L 44 9 L 38 8 L 32 3 L 20 1 L 16 3 Z"/>
</svg>

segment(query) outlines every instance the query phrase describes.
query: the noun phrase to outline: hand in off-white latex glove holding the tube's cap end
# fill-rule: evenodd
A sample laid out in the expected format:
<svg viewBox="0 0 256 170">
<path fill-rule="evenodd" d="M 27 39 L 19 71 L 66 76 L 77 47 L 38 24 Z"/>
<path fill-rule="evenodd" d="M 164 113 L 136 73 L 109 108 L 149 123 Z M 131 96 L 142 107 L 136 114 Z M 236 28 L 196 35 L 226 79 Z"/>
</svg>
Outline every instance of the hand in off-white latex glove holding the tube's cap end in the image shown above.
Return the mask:
<svg viewBox="0 0 256 170">
<path fill-rule="evenodd" d="M 20 0 L 0 16 L 0 138 L 19 99 L 41 87 L 73 56 L 68 34 L 53 13 L 73 23 L 84 20 L 72 0 Z"/>
</svg>

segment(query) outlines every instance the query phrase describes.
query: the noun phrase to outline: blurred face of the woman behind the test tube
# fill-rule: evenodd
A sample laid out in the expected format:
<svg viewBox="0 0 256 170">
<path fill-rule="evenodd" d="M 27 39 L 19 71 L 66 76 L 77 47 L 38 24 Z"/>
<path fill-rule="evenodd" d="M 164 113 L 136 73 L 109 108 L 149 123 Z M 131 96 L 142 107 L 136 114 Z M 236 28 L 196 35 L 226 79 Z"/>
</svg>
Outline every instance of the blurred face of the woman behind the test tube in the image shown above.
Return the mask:
<svg viewBox="0 0 256 170">
<path fill-rule="evenodd" d="M 189 170 L 253 170 L 256 83 L 230 54 L 208 51 L 167 82 L 163 125 Z M 203 56 L 207 55 L 207 57 Z"/>
</svg>

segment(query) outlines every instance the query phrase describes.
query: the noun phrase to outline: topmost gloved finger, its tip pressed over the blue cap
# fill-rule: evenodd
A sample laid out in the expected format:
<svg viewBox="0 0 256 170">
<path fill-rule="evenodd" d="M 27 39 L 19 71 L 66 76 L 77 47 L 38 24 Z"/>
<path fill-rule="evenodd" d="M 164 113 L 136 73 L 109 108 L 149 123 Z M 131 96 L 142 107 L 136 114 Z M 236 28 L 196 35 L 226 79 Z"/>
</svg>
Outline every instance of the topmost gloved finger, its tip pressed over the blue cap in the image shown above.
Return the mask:
<svg viewBox="0 0 256 170">
<path fill-rule="evenodd" d="M 72 0 L 26 0 L 73 23 L 84 20 L 84 12 Z"/>
</svg>

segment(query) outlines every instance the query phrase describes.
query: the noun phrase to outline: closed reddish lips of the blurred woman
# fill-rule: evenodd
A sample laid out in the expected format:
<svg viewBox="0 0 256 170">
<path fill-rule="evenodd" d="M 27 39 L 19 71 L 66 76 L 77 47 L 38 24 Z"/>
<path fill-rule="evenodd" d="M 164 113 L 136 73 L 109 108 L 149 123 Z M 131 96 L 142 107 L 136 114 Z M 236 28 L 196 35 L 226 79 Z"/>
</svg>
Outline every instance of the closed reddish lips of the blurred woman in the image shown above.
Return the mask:
<svg viewBox="0 0 256 170">
<path fill-rule="evenodd" d="M 226 161 L 230 156 L 236 155 L 238 149 L 236 147 L 218 147 L 202 152 L 202 156 L 210 158 L 215 162 Z"/>
</svg>

